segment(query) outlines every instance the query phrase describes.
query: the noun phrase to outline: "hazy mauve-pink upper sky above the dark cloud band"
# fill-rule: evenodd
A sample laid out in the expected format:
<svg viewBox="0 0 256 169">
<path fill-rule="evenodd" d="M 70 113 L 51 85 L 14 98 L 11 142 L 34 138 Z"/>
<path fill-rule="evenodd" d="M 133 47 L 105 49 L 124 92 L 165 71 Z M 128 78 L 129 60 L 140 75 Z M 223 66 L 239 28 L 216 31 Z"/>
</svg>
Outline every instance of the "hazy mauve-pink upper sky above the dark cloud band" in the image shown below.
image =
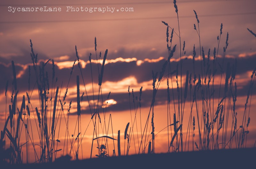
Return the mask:
<svg viewBox="0 0 256 169">
<path fill-rule="evenodd" d="M 74 60 L 74 47 L 77 45 L 80 57 L 88 60 L 94 49 L 94 37 L 97 37 L 98 51 L 109 50 L 108 59 L 117 57 L 138 59 L 155 59 L 166 57 L 165 21 L 178 33 L 177 16 L 170 1 L 111 1 L 104 5 L 97 1 L 15 1 L 1 2 L 1 53 L 6 63 L 14 59 L 26 63 L 29 58 L 29 39 L 41 58 L 54 58 L 68 55 Z M 152 3 L 149 3 L 152 2 Z M 53 5 L 50 5 L 53 4 Z M 62 5 L 64 4 L 64 5 Z M 66 5 L 65 5 L 66 4 Z M 92 4 L 92 5 L 90 5 Z M 61 7 L 61 12 L 8 12 L 12 7 Z M 66 12 L 66 6 L 74 7 L 132 7 L 134 12 Z M 255 38 L 246 28 L 255 32 L 255 1 L 178 1 L 180 16 L 181 41 L 185 40 L 187 54 L 192 54 L 193 45 L 199 48 L 199 40 L 193 24 L 197 12 L 200 21 L 201 45 L 205 49 L 217 46 L 220 24 L 223 34 L 220 46 L 224 46 L 229 33 L 228 54 L 238 56 L 240 53 L 256 52 Z M 32 23 L 28 23 L 31 22 Z M 77 21 L 77 22 L 76 22 Z M 10 23 L 8 23 L 10 22 Z M 21 22 L 21 23 L 19 23 Z M 12 23 L 12 24 L 11 24 Z M 170 31 L 171 32 L 171 31 Z M 174 34 L 173 44 L 178 44 L 178 36 Z M 199 51 L 198 51 L 199 53 Z M 222 50 L 220 50 L 222 54 Z M 174 56 L 178 57 L 178 55 Z M 22 59 L 20 59 L 22 58 Z"/>
</svg>

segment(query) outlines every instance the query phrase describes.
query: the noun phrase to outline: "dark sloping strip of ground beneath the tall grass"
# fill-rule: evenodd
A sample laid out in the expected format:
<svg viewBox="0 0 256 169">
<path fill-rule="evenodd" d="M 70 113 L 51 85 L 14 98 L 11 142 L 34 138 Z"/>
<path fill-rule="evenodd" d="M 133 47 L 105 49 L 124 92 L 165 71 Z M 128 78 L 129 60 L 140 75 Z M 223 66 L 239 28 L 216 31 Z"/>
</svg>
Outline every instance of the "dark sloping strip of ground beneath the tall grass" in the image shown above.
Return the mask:
<svg viewBox="0 0 256 169">
<path fill-rule="evenodd" d="M 253 168 L 256 148 L 140 154 L 121 157 L 70 161 L 57 158 L 53 163 L 2 165 L 1 168 Z"/>
</svg>

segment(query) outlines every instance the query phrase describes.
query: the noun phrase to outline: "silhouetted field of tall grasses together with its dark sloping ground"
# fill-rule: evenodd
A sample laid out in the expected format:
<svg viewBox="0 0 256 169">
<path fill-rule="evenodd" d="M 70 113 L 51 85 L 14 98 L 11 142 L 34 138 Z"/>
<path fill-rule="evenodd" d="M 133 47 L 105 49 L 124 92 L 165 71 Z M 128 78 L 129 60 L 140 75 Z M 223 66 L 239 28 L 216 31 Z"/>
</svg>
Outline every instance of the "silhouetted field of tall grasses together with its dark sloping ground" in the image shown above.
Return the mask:
<svg viewBox="0 0 256 169">
<path fill-rule="evenodd" d="M 178 6 L 175 0 L 173 5 L 179 26 Z M 225 46 L 221 47 L 221 24 L 220 34 L 216 38 L 218 46 L 205 52 L 201 46 L 200 16 L 197 16 L 196 11 L 194 14 L 194 29 L 199 39 L 200 57 L 196 57 L 195 45 L 193 57 L 186 57 L 185 41 L 181 41 L 180 26 L 179 30 L 174 31 L 168 23 L 162 21 L 166 27 L 168 57 L 165 58 L 162 67 L 152 70 L 152 73 L 149 72 L 152 74 L 152 95 L 151 102 L 148 103 L 148 112 L 143 112 L 144 116 L 141 115 L 143 87 L 136 96 L 135 91 L 129 86 L 127 106 L 130 108 L 131 119 L 129 123 L 118 126 L 117 131 L 113 130 L 112 125 L 114 115 L 108 113 L 108 106 L 116 103 L 111 100 L 111 91 L 107 98 L 102 94 L 103 82 L 108 80 L 104 76 L 105 70 L 108 69 L 108 49 L 104 53 L 99 53 L 95 37 L 95 57 L 91 53 L 87 65 L 91 71 L 84 72 L 83 60 L 79 58 L 79 49 L 75 46 L 76 60 L 69 69 L 69 74 L 64 75 L 66 79 L 59 80 L 55 75 L 54 60 L 39 62 L 39 56 L 35 53 L 30 40 L 32 63 L 26 72 L 26 94 L 19 93 L 14 61 L 11 63 L 13 81 L 6 82 L 6 116 L 0 139 L 0 160 L 3 165 L 26 168 L 39 167 L 32 163 L 40 163 L 42 168 L 49 165 L 119 168 L 123 165 L 120 168 L 126 168 L 124 165 L 136 161 L 138 167 L 191 167 L 193 163 L 212 167 L 250 166 L 253 161 L 252 154 L 256 152 L 255 144 L 249 148 L 247 146 L 256 67 L 251 68 L 244 111 L 238 112 L 236 72 L 239 63 L 237 60 L 233 63 L 225 61 L 229 34 L 224 37 Z M 253 31 L 248 31 L 256 37 Z M 173 34 L 177 35 L 180 44 L 172 44 L 172 39 L 176 37 Z M 222 57 L 220 51 L 223 53 Z M 179 55 L 179 63 L 175 67 L 171 66 L 174 54 Z M 199 65 L 195 64 L 197 60 Z M 191 70 L 184 67 L 187 62 L 192 65 Z M 88 76 L 90 79 L 85 78 Z M 72 78 L 73 81 L 74 78 L 76 80 L 75 92 L 74 86 L 71 86 Z M 66 82 L 63 83 L 62 80 Z M 163 115 L 163 122 L 167 125 L 163 130 L 166 131 L 165 139 L 169 146 L 166 148 L 166 154 L 157 154 L 158 143 L 155 137 L 163 130 L 155 131 L 154 115 L 159 86 L 165 80 L 166 95 L 163 97 L 166 98 L 167 109 Z M 91 86 L 88 87 L 88 84 Z M 72 95 L 74 93 L 76 96 Z M 11 97 L 11 102 L 7 100 L 7 96 Z M 85 111 L 83 104 L 86 104 L 86 111 L 91 117 L 86 124 L 81 120 Z M 76 123 L 69 121 L 70 116 L 77 117 Z M 86 134 L 87 129 L 92 132 L 92 137 L 89 138 L 91 147 L 90 151 L 84 152 L 84 140 L 89 137 Z M 131 149 L 135 153 L 131 153 Z M 94 152 L 98 154 L 93 154 Z M 93 159 L 82 160 L 83 156 Z M 184 163 L 184 160 L 187 162 Z M 63 161 L 68 162 L 63 164 Z"/>
</svg>

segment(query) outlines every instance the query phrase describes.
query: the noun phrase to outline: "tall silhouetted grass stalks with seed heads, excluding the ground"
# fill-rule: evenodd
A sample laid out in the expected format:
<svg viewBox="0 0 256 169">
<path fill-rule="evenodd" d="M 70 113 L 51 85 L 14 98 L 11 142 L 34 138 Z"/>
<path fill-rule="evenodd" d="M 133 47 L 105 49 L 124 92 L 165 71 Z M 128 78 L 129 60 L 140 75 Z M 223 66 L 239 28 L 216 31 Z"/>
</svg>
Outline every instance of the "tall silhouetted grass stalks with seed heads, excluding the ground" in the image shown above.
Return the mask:
<svg viewBox="0 0 256 169">
<path fill-rule="evenodd" d="M 97 57 L 97 42 L 96 37 L 94 39 L 95 44 L 95 55 L 97 61 L 98 70 L 98 91 L 95 94 L 93 84 L 93 72 L 92 72 L 92 54 L 90 53 L 89 62 L 91 69 L 91 81 L 92 81 L 92 96 L 93 105 L 90 102 L 87 89 L 85 86 L 84 72 L 82 71 L 77 47 L 75 46 L 77 66 L 80 75 L 76 76 L 76 112 L 77 120 L 76 124 L 69 124 L 69 116 L 72 101 L 69 102 L 68 109 L 64 109 L 66 104 L 66 97 L 68 97 L 68 84 L 70 82 L 73 69 L 76 64 L 76 60 L 70 70 L 70 76 L 68 79 L 67 87 L 63 99 L 60 99 L 62 84 L 59 87 L 57 84 L 58 78 L 55 77 L 55 64 L 52 60 L 52 79 L 49 78 L 50 73 L 45 71 L 45 66 L 51 60 L 47 60 L 45 63 L 37 63 L 37 54 L 34 53 L 33 44 L 30 40 L 31 47 L 31 60 L 33 63 L 33 69 L 35 72 L 35 79 L 30 79 L 31 70 L 28 67 L 28 91 L 27 101 L 25 95 L 22 97 L 21 105 L 18 105 L 18 101 L 21 98 L 18 97 L 19 86 L 17 84 L 16 70 L 14 61 L 12 61 L 12 72 L 13 72 L 13 83 L 12 83 L 12 94 L 11 102 L 8 106 L 7 95 L 9 82 L 6 82 L 5 88 L 5 125 L 3 131 L 1 131 L 0 148 L 1 148 L 1 161 L 7 162 L 9 164 L 21 164 L 22 162 L 31 163 L 30 158 L 34 156 L 36 163 L 47 163 L 56 160 L 57 153 L 62 149 L 58 148 L 58 143 L 60 143 L 60 128 L 65 128 L 65 138 L 63 144 L 62 156 L 74 157 L 73 159 L 78 160 L 78 157 L 83 159 L 83 144 L 82 141 L 86 134 L 89 125 L 93 126 L 93 136 L 92 136 L 92 146 L 91 154 L 94 148 L 94 141 L 97 141 L 96 154 L 99 158 L 109 157 L 109 147 L 108 139 L 113 140 L 113 157 L 116 156 L 115 144 L 117 144 L 118 157 L 116 159 L 121 159 L 121 149 L 124 151 L 124 156 L 129 155 L 129 149 L 134 146 L 135 154 L 154 154 L 156 152 L 156 135 L 167 128 L 167 142 L 166 152 L 182 152 L 182 151 L 209 151 L 212 152 L 219 149 L 241 149 L 246 148 L 247 135 L 249 133 L 250 124 L 250 106 L 252 99 L 253 83 L 256 76 L 256 68 L 252 71 L 251 81 L 248 86 L 247 98 L 244 104 L 244 112 L 242 114 L 242 124 L 238 124 L 238 113 L 236 111 L 236 101 L 237 101 L 237 84 L 236 69 L 237 61 L 234 63 L 227 63 L 224 65 L 224 60 L 226 52 L 228 50 L 228 38 L 229 34 L 227 32 L 226 43 L 223 47 L 223 56 L 219 56 L 220 52 L 220 39 L 222 35 L 223 25 L 220 25 L 220 34 L 217 36 L 217 48 L 214 47 L 213 53 L 208 50 L 207 58 L 204 53 L 204 47 L 201 46 L 201 36 L 199 30 L 199 17 L 194 10 L 196 17 L 196 24 L 194 24 L 194 29 L 198 34 L 199 38 L 199 50 L 200 50 L 200 71 L 199 73 L 195 71 L 195 60 L 196 60 L 196 45 L 193 46 L 193 59 L 188 60 L 185 57 L 185 41 L 183 43 L 183 48 L 181 50 L 181 37 L 180 37 L 180 24 L 179 24 L 179 14 L 178 6 L 176 0 L 173 1 L 174 9 L 177 14 L 179 35 L 168 25 L 166 22 L 162 23 L 167 26 L 166 28 L 166 42 L 168 57 L 165 60 L 162 67 L 159 67 L 159 74 L 155 70 L 152 70 L 152 100 L 150 103 L 150 108 L 148 111 L 148 116 L 146 119 L 141 117 L 141 96 L 142 87 L 140 88 L 139 100 L 138 96 L 135 96 L 134 90 L 132 89 L 132 98 L 130 93 L 130 86 L 128 88 L 129 94 L 129 106 L 131 114 L 131 122 L 128 122 L 124 130 L 124 146 L 121 146 L 121 132 L 118 130 L 117 133 L 117 143 L 114 141 L 114 132 L 112 126 L 112 117 L 107 115 L 107 105 L 104 105 L 103 95 L 102 95 L 102 85 L 104 80 L 104 69 L 107 60 L 108 49 L 105 51 L 102 63 L 100 64 L 101 52 L 99 54 L 99 59 Z M 169 28 L 172 29 L 171 36 L 169 36 Z M 248 28 L 247 28 L 248 29 Z M 256 36 L 251 30 L 248 29 L 252 35 Z M 172 39 L 173 32 L 179 38 L 180 46 L 180 63 L 176 67 L 171 67 L 171 59 L 175 54 L 176 46 L 173 45 Z M 169 40 L 170 39 L 170 40 Z M 172 47 L 173 46 L 173 47 Z M 182 51 L 182 52 L 181 52 Z M 213 55 L 213 56 L 211 56 Z M 212 59 L 210 59 L 212 57 Z M 218 60 L 218 61 L 217 61 Z M 182 66 L 184 62 L 191 62 L 193 65 L 192 70 L 184 70 Z M 222 62 L 222 64 L 221 64 Z M 167 70 L 168 69 L 168 70 Z M 182 83 L 182 72 L 186 72 L 185 87 Z M 87 73 L 87 72 L 86 72 Z M 220 74 L 220 84 L 214 84 L 214 80 L 217 77 L 217 73 Z M 166 88 L 166 101 L 167 101 L 167 118 L 163 116 L 163 119 L 167 125 L 163 130 L 155 133 L 155 123 L 154 116 L 155 104 L 157 98 L 157 91 L 162 80 L 166 78 L 167 88 Z M 193 79 L 192 79 L 193 78 Z M 176 81 L 173 84 L 173 81 Z M 85 93 L 80 95 L 81 83 L 84 84 Z M 32 84 L 32 85 L 31 85 Z M 51 84 L 51 86 L 50 86 Z M 97 85 L 97 84 L 96 84 Z M 182 87 L 183 85 L 183 87 Z M 31 88 L 33 86 L 33 88 Z M 221 91 L 221 87 L 224 86 L 224 91 Z M 36 91 L 37 89 L 37 91 Z M 60 91 L 59 91 L 60 90 Z M 89 111 L 91 114 L 91 119 L 87 125 L 86 129 L 81 127 L 81 105 L 84 99 L 84 94 L 86 95 Z M 38 97 L 37 103 L 31 102 L 30 98 L 32 95 Z M 108 94 L 109 99 L 110 92 Z M 177 95 L 177 96 L 176 96 Z M 218 99 L 216 99 L 218 98 Z M 95 100 L 96 99 L 96 100 Z M 104 99 L 105 100 L 105 99 Z M 132 103 L 133 107 L 132 107 Z M 175 102 L 177 101 L 177 103 Z M 217 104 L 216 104 L 217 101 Z M 52 103 L 53 102 L 53 103 Z M 128 103 L 127 103 L 128 104 Z M 36 107 L 34 108 L 33 105 Z M 52 107 L 53 105 L 53 107 Z M 60 106 L 59 106 L 60 105 Z M 20 109 L 19 109 L 20 106 Z M 7 107 L 9 107 L 9 115 L 7 113 Z M 49 108 L 50 107 L 50 108 Z M 100 109 L 100 108 L 103 109 Z M 185 112 L 185 107 L 188 108 L 188 112 Z M 133 114 L 134 109 L 134 114 Z M 103 113 L 100 117 L 100 113 Z M 140 116 L 137 116 L 137 113 Z M 36 114 L 36 115 L 35 115 Z M 49 116 L 50 114 L 50 116 Z M 63 117 L 62 117 L 63 116 Z M 188 122 L 184 121 L 184 116 L 188 116 Z M 150 121 L 151 117 L 151 121 Z M 65 120 L 65 123 L 61 123 L 61 119 Z M 142 123 L 145 120 L 145 123 Z M 164 121 L 163 120 L 163 121 Z M 92 122 L 92 123 L 91 123 Z M 107 126 L 108 123 L 108 126 Z M 129 125 L 130 131 L 129 130 Z M 9 125 L 10 127 L 9 127 Z M 35 125 L 32 125 L 35 124 Z M 64 125 L 64 127 L 63 127 Z M 74 131 L 70 131 L 70 125 L 74 125 Z M 186 128 L 187 127 L 187 128 Z M 58 132 L 58 134 L 57 134 Z M 84 133 L 83 133 L 84 132 Z M 111 135 L 112 132 L 112 137 Z M 56 133 L 56 135 L 55 135 Z M 73 134 L 71 134 L 73 133 Z M 77 133 L 77 134 L 75 134 Z M 186 133 L 186 134 L 185 134 Z M 21 144 L 23 134 L 25 134 L 25 143 Z M 6 139 L 6 137 L 8 139 Z M 112 141 L 111 140 L 111 141 Z M 5 144 L 8 141 L 8 146 L 10 148 L 6 149 Z M 63 140 L 61 140 L 63 141 Z M 127 141 L 127 147 L 126 147 Z M 132 143 L 133 142 L 133 143 Z M 75 148 L 77 144 L 77 148 Z M 134 144 L 134 145 L 133 145 Z M 22 146 L 26 145 L 26 148 Z M 33 147 L 34 154 L 30 154 L 30 145 Z M 69 150 L 68 150 L 69 149 Z M 4 157 L 5 152 L 8 153 L 9 157 Z M 125 151 L 126 150 L 126 151 Z M 26 155 L 24 158 L 23 153 Z M 85 153 L 85 152 L 84 152 Z M 81 154 L 81 155 L 80 155 Z M 176 156 L 173 153 L 174 157 Z M 167 155 L 168 156 L 168 155 Z M 147 157 L 151 157 L 148 155 Z M 178 157 L 178 155 L 177 155 Z M 129 158 L 129 157 L 128 157 Z M 179 157 L 180 160 L 181 157 Z M 191 158 L 190 158 L 191 159 Z M 134 160 L 134 159 L 133 159 Z M 195 159 L 196 160 L 196 159 Z M 198 160 L 198 158 L 197 158 Z M 211 160 L 211 159 L 209 159 Z M 56 160 L 58 161 L 58 160 Z M 212 164 L 212 161 L 209 161 Z M 207 164 L 209 164 L 207 163 Z M 146 163 L 145 163 L 146 164 Z M 148 163 L 147 163 L 148 164 Z M 150 164 L 150 163 L 149 163 Z M 215 163 L 214 163 L 215 164 Z"/>
</svg>

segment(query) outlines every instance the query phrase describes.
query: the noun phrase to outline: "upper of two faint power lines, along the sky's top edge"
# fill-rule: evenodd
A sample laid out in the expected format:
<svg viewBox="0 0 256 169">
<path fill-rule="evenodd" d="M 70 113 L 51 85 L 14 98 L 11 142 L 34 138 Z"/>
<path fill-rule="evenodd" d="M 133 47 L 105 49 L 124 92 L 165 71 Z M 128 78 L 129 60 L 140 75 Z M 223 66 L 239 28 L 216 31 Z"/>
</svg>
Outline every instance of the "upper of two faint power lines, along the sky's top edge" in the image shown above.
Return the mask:
<svg viewBox="0 0 256 169">
<path fill-rule="evenodd" d="M 245 0 L 184 0 L 178 1 L 177 4 L 183 3 L 206 3 L 206 2 L 228 2 L 228 1 L 245 1 Z M 172 4 L 170 1 L 155 2 L 126 2 L 126 3 L 82 3 L 82 4 L 1 4 L 0 6 L 77 6 L 77 5 L 144 5 L 144 4 Z"/>
</svg>

